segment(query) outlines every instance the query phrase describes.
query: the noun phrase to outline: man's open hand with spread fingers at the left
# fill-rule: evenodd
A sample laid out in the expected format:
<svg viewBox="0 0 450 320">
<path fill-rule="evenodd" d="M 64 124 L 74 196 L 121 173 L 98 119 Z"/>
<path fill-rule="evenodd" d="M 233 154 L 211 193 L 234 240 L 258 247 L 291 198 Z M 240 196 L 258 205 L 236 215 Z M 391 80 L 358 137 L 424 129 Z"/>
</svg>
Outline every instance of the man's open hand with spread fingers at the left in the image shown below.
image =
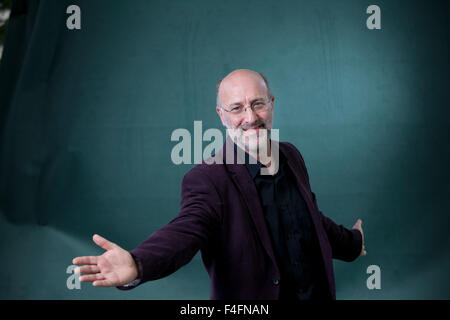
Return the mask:
<svg viewBox="0 0 450 320">
<path fill-rule="evenodd" d="M 73 264 L 84 264 L 75 269 L 81 282 L 92 282 L 96 287 L 115 287 L 130 283 L 138 277 L 138 268 L 131 254 L 117 244 L 95 234 L 92 240 L 106 250 L 101 256 L 76 257 Z"/>
</svg>

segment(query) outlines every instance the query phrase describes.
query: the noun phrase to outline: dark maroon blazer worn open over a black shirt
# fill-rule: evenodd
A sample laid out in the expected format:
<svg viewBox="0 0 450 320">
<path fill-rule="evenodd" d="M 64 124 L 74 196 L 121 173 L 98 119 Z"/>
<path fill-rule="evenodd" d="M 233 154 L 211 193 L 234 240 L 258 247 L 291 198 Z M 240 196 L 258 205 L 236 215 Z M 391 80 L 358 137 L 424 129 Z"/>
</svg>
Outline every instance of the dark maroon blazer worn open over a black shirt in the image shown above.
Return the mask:
<svg viewBox="0 0 450 320">
<path fill-rule="evenodd" d="M 179 214 L 131 251 L 141 264 L 140 284 L 175 272 L 201 250 L 211 299 L 278 299 L 283 279 L 258 192 L 245 165 L 225 164 L 227 148 L 233 148 L 228 139 L 220 152 L 224 164 L 203 162 L 184 176 Z M 356 259 L 361 233 L 319 211 L 303 158 L 292 144 L 279 143 L 279 152 L 286 156 L 311 214 L 335 299 L 332 258 Z"/>
</svg>

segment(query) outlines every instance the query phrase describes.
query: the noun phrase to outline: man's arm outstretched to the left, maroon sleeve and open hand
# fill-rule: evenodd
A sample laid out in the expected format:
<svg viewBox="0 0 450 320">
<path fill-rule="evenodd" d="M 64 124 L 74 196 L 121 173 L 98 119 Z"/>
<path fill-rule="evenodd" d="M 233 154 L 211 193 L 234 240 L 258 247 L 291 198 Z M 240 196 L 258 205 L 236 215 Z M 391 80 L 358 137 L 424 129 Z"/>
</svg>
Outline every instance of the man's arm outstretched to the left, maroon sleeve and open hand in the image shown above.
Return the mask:
<svg viewBox="0 0 450 320">
<path fill-rule="evenodd" d="M 76 269 L 77 273 L 85 274 L 80 281 L 130 289 L 135 287 L 138 276 L 139 284 L 168 276 L 187 264 L 199 249 L 208 246 L 217 234 L 220 208 L 221 200 L 211 179 L 201 169 L 194 168 L 183 179 L 177 217 L 130 252 L 94 235 L 94 242 L 106 252 L 73 259 L 74 264 L 84 264 Z"/>
</svg>

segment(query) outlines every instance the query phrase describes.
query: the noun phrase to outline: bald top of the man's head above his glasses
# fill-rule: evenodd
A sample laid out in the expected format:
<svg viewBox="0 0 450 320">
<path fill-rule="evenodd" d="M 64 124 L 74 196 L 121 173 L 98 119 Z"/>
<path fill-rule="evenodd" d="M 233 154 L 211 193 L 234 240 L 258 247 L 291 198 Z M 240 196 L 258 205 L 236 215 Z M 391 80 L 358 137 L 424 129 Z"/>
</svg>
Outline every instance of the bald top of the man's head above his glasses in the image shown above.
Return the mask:
<svg viewBox="0 0 450 320">
<path fill-rule="evenodd" d="M 217 84 L 217 106 L 222 107 L 223 103 L 236 96 L 243 96 L 245 93 L 257 93 L 264 98 L 270 99 L 269 83 L 266 77 L 260 72 L 248 69 L 234 70 L 225 76 Z"/>
</svg>

